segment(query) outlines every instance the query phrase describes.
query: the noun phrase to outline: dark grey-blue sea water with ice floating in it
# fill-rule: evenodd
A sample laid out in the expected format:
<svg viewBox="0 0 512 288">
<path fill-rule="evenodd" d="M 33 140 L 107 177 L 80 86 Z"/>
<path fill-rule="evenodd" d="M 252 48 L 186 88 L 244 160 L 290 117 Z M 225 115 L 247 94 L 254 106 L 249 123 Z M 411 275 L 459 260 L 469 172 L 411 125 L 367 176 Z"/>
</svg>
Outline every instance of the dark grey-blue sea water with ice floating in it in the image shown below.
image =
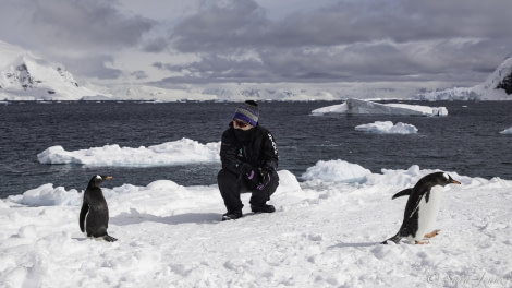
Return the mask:
<svg viewBox="0 0 512 288">
<path fill-rule="evenodd" d="M 318 160 L 341 159 L 373 172 L 381 169 L 456 171 L 459 175 L 512 180 L 512 101 L 409 103 L 444 106 L 448 117 L 312 116 L 314 109 L 341 101 L 260 103 L 260 124 L 277 141 L 280 167 L 298 180 Z M 407 101 L 402 101 L 406 103 Z M 37 154 L 61 145 L 66 151 L 118 144 L 139 147 L 183 137 L 219 142 L 234 103 L 9 103 L 0 104 L 0 197 L 46 183 L 83 191 L 96 173 L 111 175 L 106 187 L 147 185 L 172 180 L 181 185 L 217 182 L 220 164 L 126 168 L 44 165 Z M 413 124 L 417 134 L 357 132 L 358 124 L 393 121 Z"/>
</svg>

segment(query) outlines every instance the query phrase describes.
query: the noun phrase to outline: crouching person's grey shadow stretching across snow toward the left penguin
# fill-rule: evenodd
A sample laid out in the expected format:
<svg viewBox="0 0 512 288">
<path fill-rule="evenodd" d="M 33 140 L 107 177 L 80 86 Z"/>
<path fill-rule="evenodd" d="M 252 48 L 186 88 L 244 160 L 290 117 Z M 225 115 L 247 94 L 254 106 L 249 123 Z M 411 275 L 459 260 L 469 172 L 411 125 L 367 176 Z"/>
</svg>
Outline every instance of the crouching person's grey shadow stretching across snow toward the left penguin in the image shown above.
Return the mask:
<svg viewBox="0 0 512 288">
<path fill-rule="evenodd" d="M 151 214 L 139 213 L 137 209 L 131 208 L 130 213 L 123 212 L 115 217 L 110 218 L 110 224 L 117 226 L 127 226 L 146 221 L 162 223 L 168 225 L 180 225 L 187 223 L 195 224 L 217 224 L 219 223 L 218 213 L 185 213 L 172 216 L 155 216 Z"/>
</svg>

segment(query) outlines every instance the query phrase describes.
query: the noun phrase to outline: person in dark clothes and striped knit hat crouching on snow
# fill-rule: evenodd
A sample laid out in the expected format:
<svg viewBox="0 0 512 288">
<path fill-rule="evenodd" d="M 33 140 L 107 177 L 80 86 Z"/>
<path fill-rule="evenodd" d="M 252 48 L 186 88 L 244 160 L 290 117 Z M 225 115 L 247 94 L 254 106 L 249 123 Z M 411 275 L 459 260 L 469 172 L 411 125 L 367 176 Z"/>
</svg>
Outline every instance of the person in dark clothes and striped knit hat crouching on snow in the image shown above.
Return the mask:
<svg viewBox="0 0 512 288">
<path fill-rule="evenodd" d="M 266 202 L 279 185 L 278 149 L 273 135 L 258 124 L 259 108 L 247 100 L 236 108 L 233 121 L 222 133 L 217 181 L 228 212 L 222 220 L 243 216 L 241 193 L 252 192 L 251 211 L 273 213 Z"/>
</svg>

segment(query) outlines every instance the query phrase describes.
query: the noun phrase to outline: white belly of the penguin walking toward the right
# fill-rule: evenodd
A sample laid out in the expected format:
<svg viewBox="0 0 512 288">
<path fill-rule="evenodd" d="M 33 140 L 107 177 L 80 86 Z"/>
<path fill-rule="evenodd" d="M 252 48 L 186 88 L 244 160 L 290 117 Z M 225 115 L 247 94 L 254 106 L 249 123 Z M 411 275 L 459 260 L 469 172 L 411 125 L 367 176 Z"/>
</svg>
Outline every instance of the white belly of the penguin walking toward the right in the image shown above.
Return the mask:
<svg viewBox="0 0 512 288">
<path fill-rule="evenodd" d="M 422 197 L 418 207 L 418 230 L 416 232 L 415 240 L 420 240 L 425 233 L 434 229 L 436 225 L 436 218 L 439 213 L 441 205 L 442 191 L 444 190 L 441 185 L 435 185 L 430 189 L 430 195 L 427 202 L 427 195 Z"/>
</svg>

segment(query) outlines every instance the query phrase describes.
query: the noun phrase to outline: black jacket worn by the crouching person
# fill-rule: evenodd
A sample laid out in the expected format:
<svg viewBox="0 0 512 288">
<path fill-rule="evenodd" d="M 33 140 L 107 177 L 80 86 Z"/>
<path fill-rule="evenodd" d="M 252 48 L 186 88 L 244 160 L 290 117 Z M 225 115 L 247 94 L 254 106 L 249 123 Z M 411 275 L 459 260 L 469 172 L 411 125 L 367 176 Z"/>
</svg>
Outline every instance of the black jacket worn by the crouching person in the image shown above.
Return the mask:
<svg viewBox="0 0 512 288">
<path fill-rule="evenodd" d="M 241 173 L 240 167 L 248 163 L 261 170 L 275 171 L 278 168 L 278 148 L 272 134 L 261 125 L 248 131 L 236 130 L 233 123 L 222 133 L 220 146 L 222 168 Z"/>
</svg>

